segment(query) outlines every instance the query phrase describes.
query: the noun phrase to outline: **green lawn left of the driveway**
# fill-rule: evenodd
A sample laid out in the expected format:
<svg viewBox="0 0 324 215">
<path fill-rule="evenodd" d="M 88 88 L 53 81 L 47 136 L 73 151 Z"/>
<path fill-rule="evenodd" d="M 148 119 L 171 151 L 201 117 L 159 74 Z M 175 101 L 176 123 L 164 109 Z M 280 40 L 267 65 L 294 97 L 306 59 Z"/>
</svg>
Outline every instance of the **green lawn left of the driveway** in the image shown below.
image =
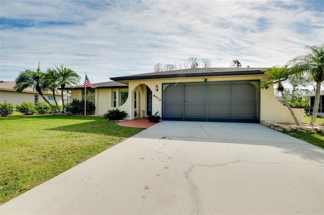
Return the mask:
<svg viewBox="0 0 324 215">
<path fill-rule="evenodd" d="M 0 204 L 143 131 L 103 117 L 0 118 Z"/>
</svg>

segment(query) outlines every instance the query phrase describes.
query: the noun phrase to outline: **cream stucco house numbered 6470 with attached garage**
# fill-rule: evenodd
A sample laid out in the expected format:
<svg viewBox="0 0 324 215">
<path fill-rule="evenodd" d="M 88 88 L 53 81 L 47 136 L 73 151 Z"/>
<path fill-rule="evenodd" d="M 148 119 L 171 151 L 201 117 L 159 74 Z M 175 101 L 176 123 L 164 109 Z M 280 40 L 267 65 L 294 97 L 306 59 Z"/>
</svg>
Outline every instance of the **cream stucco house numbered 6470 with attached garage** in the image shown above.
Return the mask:
<svg viewBox="0 0 324 215">
<path fill-rule="evenodd" d="M 134 119 L 135 111 L 140 117 L 158 111 L 162 120 L 294 123 L 288 108 L 276 100 L 273 85 L 256 91 L 262 70 L 192 68 L 111 77 L 114 81 L 87 88 L 87 98 L 95 101 L 96 115 L 118 107 L 128 119 Z M 84 98 L 84 85 L 67 90 L 71 98 Z M 303 121 L 303 109 L 294 112 Z"/>
</svg>

